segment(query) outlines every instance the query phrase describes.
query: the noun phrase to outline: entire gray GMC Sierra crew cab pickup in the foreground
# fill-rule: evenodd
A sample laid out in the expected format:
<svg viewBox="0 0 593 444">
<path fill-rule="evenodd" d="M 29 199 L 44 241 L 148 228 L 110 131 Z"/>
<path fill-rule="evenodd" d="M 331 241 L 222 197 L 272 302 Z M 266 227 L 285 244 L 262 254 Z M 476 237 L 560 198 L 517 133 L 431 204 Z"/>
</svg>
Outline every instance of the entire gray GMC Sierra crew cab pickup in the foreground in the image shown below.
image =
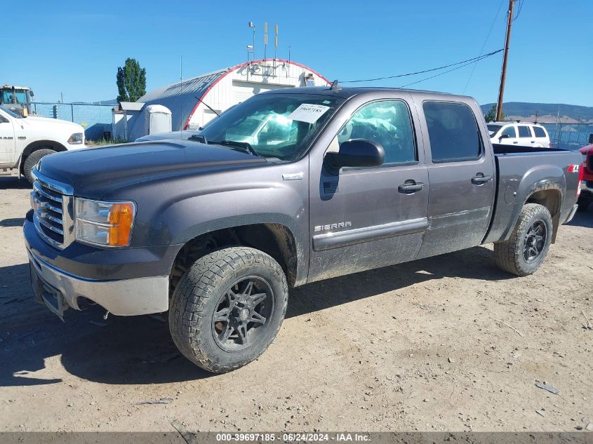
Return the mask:
<svg viewBox="0 0 593 444">
<path fill-rule="evenodd" d="M 41 159 L 23 228 L 34 294 L 62 318 L 168 311 L 182 354 L 226 372 L 265 351 L 297 285 L 484 243 L 533 273 L 575 213 L 580 162 L 493 147 L 471 97 L 261 93 L 192 140 Z"/>
</svg>

